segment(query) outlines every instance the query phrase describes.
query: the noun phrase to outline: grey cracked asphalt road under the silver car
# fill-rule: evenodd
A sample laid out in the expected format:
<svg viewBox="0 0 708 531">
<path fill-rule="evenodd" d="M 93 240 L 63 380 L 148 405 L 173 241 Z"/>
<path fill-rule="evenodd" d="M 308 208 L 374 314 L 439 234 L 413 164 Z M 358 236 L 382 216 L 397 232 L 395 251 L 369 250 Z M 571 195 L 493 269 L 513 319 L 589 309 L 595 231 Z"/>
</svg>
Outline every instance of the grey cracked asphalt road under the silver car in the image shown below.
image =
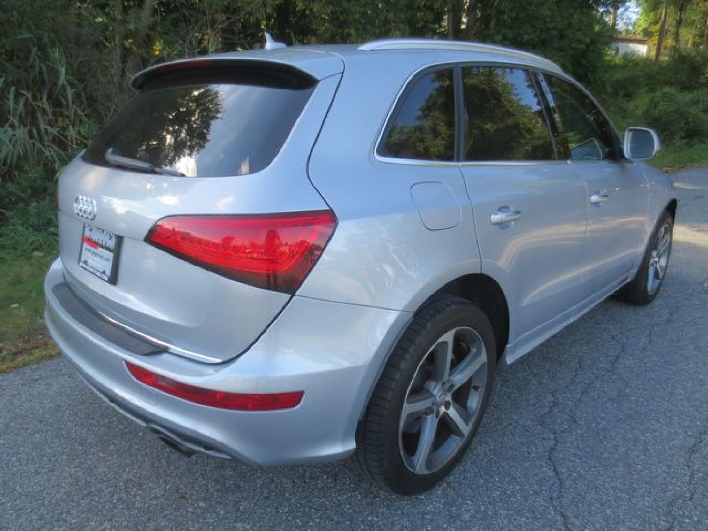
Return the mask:
<svg viewBox="0 0 708 531">
<path fill-rule="evenodd" d="M 181 457 L 59 359 L 0 376 L 0 528 L 708 530 L 708 169 L 673 178 L 656 302 L 603 302 L 500 372 L 433 491 Z"/>
</svg>

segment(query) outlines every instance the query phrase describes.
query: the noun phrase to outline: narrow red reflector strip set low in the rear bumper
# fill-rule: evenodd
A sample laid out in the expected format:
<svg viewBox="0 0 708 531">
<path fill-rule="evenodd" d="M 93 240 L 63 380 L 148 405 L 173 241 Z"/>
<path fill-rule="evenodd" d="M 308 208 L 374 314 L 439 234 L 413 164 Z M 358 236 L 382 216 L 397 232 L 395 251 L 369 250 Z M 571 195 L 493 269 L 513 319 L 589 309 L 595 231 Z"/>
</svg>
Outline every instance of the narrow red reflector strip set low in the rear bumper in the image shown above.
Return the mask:
<svg viewBox="0 0 708 531">
<path fill-rule="evenodd" d="M 125 362 L 130 374 L 138 382 L 157 389 L 158 391 L 177 396 L 178 398 L 221 409 L 239 411 L 269 411 L 273 409 L 290 409 L 302 401 L 304 391 L 285 393 L 227 393 L 214 389 L 202 389 L 190 384 L 184 384 L 156 372 L 139 367 L 131 362 Z"/>
</svg>

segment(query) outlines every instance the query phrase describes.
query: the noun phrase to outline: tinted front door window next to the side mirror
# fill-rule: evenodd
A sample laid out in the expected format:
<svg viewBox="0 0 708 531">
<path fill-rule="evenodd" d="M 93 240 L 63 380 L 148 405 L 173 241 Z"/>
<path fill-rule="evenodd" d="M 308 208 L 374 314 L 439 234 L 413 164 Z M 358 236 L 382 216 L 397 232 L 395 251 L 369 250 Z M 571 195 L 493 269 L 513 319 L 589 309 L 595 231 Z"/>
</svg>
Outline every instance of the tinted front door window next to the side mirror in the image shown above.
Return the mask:
<svg viewBox="0 0 708 531">
<path fill-rule="evenodd" d="M 573 161 L 615 158 L 615 133 L 605 115 L 576 86 L 555 76 L 543 76 L 561 137 L 568 144 Z M 543 83 L 543 79 L 542 79 Z"/>
</svg>

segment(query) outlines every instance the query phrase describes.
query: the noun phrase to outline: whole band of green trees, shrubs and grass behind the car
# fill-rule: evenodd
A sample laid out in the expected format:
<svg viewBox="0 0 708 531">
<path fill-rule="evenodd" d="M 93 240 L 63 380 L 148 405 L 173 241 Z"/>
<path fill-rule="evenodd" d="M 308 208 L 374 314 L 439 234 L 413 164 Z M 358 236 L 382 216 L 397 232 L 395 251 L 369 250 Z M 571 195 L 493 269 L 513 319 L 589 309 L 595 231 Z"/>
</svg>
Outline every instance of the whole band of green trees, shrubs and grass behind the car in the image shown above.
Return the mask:
<svg viewBox="0 0 708 531">
<path fill-rule="evenodd" d="M 288 44 L 420 36 L 537 52 L 583 81 L 620 130 L 658 130 L 664 150 L 653 164 L 668 170 L 708 165 L 705 2 L 683 2 L 682 16 L 672 7 L 658 64 L 610 52 L 610 13 L 628 4 L 622 0 L 6 4 L 0 26 L 0 372 L 55 355 L 42 323 L 42 277 L 56 255 L 57 171 L 130 97 L 135 72 L 178 57 L 259 46 L 264 28 Z M 636 32 L 656 35 L 653 4 L 639 3 Z"/>
</svg>

